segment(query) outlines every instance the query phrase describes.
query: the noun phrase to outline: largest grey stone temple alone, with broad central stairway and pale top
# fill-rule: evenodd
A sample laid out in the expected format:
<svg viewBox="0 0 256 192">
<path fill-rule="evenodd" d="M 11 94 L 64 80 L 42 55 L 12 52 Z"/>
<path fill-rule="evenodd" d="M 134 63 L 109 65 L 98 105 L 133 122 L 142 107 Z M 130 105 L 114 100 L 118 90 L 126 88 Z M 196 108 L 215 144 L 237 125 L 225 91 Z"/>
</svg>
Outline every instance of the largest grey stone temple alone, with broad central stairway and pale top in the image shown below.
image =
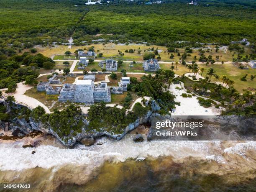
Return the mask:
<svg viewBox="0 0 256 192">
<path fill-rule="evenodd" d="M 58 97 L 60 102 L 111 102 L 110 87 L 105 81 L 94 85 L 91 79 L 77 80 L 77 84 L 64 84 Z"/>
</svg>

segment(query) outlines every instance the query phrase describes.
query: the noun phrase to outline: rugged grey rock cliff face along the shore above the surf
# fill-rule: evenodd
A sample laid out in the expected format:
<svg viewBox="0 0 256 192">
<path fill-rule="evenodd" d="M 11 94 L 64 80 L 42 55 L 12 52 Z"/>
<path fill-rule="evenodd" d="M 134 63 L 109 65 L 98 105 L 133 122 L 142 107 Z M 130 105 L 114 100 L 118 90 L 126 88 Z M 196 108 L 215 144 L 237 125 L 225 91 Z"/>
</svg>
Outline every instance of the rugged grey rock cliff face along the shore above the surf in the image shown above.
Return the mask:
<svg viewBox="0 0 256 192">
<path fill-rule="evenodd" d="M 154 113 L 154 111 L 159 110 L 159 105 L 156 104 L 156 102 L 152 102 L 151 104 L 151 110 L 146 113 L 141 118 L 138 118 L 133 123 L 130 123 L 127 127 L 124 128 L 123 132 L 120 134 L 115 134 L 113 132 L 105 131 L 104 128 L 100 128 L 98 131 L 92 130 L 90 132 L 86 131 L 86 127 L 89 125 L 89 122 L 82 117 L 82 120 L 84 122 L 84 127 L 82 128 L 81 133 L 77 133 L 76 136 L 64 136 L 59 137 L 59 135 L 50 127 L 43 125 L 40 121 L 37 122 L 33 118 L 29 118 L 28 121 L 25 120 L 25 118 L 13 118 L 12 123 L 10 124 L 10 131 L 16 136 L 26 136 L 33 131 L 40 131 L 45 134 L 51 134 L 55 138 L 57 138 L 64 146 L 68 148 L 72 148 L 76 143 L 82 143 L 85 146 L 90 146 L 95 143 L 95 140 L 97 138 L 100 138 L 102 136 L 108 136 L 110 138 L 113 138 L 115 140 L 122 139 L 128 132 L 131 132 L 135 128 L 137 128 L 141 124 L 150 123 L 151 126 L 149 128 L 149 132 L 147 134 L 147 140 L 165 140 L 168 139 L 168 137 L 157 137 L 156 136 L 156 122 L 157 121 L 166 121 L 171 120 L 175 121 L 175 117 L 177 116 L 171 116 L 171 115 L 160 115 L 159 113 Z M 19 106 L 15 104 L 15 106 L 18 108 Z M 24 106 L 23 106 L 24 107 Z M 178 118 L 179 119 L 179 118 Z M 0 120 L 0 125 L 4 125 L 4 122 Z M 237 115 L 231 115 L 231 116 L 212 116 L 210 118 L 210 122 L 207 124 L 207 136 L 211 134 L 211 137 L 214 138 L 214 134 L 216 134 L 216 130 L 219 132 L 217 134 L 224 134 L 224 136 L 233 137 L 234 140 L 244 140 L 244 138 L 238 137 L 237 135 L 234 136 L 234 134 L 231 132 L 230 135 L 230 129 L 235 128 L 237 132 L 242 133 L 244 136 L 248 136 L 248 133 L 254 133 L 256 131 L 256 118 L 255 117 L 245 117 L 245 116 L 237 116 Z M 168 128 L 163 128 L 163 131 L 167 132 L 170 131 Z M 205 133 L 203 133 L 205 134 Z M 2 133 L 3 135 L 3 133 Z M 252 137 L 251 137 L 252 136 Z M 143 138 L 141 136 L 137 136 L 138 138 L 135 138 L 134 141 L 143 141 Z M 236 137 L 236 138 L 235 138 Z M 3 136 L 0 136 L 0 138 L 3 138 Z M 249 135 L 249 138 L 251 140 L 255 140 L 255 136 Z M 4 139 L 4 138 L 3 138 Z M 207 139 L 205 139 L 207 140 Z M 210 140 L 210 139 L 209 139 Z M 215 140 L 215 139 L 212 139 Z M 225 139 L 223 139 L 225 140 Z M 231 139 L 232 140 L 232 139 Z M 245 139 L 248 140 L 248 139 Z M 101 143 L 98 143 L 101 144 Z"/>
</svg>

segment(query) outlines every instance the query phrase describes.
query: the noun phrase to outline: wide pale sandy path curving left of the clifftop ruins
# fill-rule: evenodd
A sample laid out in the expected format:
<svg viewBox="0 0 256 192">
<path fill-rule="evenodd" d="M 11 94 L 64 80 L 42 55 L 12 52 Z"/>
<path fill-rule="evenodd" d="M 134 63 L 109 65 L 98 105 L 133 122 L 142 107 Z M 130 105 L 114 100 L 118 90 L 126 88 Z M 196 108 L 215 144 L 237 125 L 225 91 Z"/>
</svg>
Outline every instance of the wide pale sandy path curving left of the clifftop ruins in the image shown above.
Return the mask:
<svg viewBox="0 0 256 192">
<path fill-rule="evenodd" d="M 29 108 L 36 108 L 38 105 L 40 105 L 41 107 L 44 108 L 46 113 L 50 113 L 50 110 L 48 107 L 46 107 L 46 105 L 44 105 L 43 103 L 41 103 L 40 101 L 32 97 L 23 95 L 26 92 L 26 90 L 31 89 L 33 86 L 23 84 L 22 82 L 18 83 L 17 86 L 18 87 L 16 89 L 16 92 L 13 94 L 16 102 L 26 105 Z"/>
</svg>

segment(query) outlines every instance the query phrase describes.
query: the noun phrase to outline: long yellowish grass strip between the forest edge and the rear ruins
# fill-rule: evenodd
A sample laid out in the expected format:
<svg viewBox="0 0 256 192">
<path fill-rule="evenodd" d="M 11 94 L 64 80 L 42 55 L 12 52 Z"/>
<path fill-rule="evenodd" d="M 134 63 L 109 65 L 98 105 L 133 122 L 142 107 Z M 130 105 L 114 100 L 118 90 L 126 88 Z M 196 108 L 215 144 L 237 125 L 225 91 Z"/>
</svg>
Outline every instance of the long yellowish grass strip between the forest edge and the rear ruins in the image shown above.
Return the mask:
<svg viewBox="0 0 256 192">
<path fill-rule="evenodd" d="M 102 53 L 104 58 L 112 58 L 112 59 L 126 59 L 126 60 L 135 60 L 135 61 L 143 61 L 143 54 L 144 50 L 148 51 L 149 48 L 154 47 L 154 49 L 158 48 L 161 50 L 159 55 L 161 56 L 161 61 L 179 61 L 179 58 L 181 56 L 178 56 L 177 53 L 169 53 L 167 51 L 167 48 L 165 46 L 156 46 L 156 45 L 150 45 L 146 46 L 145 44 L 129 44 L 129 45 L 124 45 L 124 44 L 114 44 L 114 43 L 108 43 L 108 44 L 91 44 L 87 46 L 72 46 L 71 49 L 68 48 L 68 46 L 56 46 L 56 47 L 41 47 L 38 48 L 38 53 L 44 54 L 45 56 L 52 56 L 54 54 L 64 54 L 65 51 L 71 51 L 74 53 L 76 49 L 84 49 L 86 48 L 87 50 L 91 47 L 94 46 L 94 49 L 97 54 Z M 242 46 L 242 45 L 240 45 Z M 237 53 L 234 51 L 224 51 L 224 50 L 219 50 L 217 53 L 215 51 L 215 46 L 207 46 L 210 48 L 209 52 L 205 53 L 205 56 L 209 56 L 210 54 L 212 55 L 212 58 L 215 59 L 215 56 L 220 56 L 220 59 L 218 62 L 221 61 L 232 61 L 233 57 L 232 54 L 237 56 Z M 246 54 L 250 54 L 251 51 L 248 49 L 248 47 L 245 47 L 245 53 L 242 54 L 245 56 Z M 140 49 L 139 49 L 140 48 Z M 125 50 L 129 49 L 135 49 L 134 53 L 125 53 Z M 124 56 L 120 56 L 118 54 L 118 50 L 122 51 L 124 53 Z M 141 54 L 138 54 L 138 50 L 141 50 Z M 205 49 L 206 50 L 206 49 Z M 185 53 L 184 48 L 179 48 L 179 52 L 182 55 Z M 170 55 L 174 54 L 174 58 L 170 59 Z M 200 57 L 198 49 L 193 49 L 193 52 L 190 53 L 191 56 L 188 56 L 185 61 L 192 61 L 194 56 L 197 56 L 197 58 Z M 68 58 L 68 56 L 64 55 L 56 55 L 54 56 L 54 59 L 74 59 L 74 56 L 70 56 L 71 58 Z M 102 59 L 102 58 L 97 58 L 97 59 Z"/>
</svg>

